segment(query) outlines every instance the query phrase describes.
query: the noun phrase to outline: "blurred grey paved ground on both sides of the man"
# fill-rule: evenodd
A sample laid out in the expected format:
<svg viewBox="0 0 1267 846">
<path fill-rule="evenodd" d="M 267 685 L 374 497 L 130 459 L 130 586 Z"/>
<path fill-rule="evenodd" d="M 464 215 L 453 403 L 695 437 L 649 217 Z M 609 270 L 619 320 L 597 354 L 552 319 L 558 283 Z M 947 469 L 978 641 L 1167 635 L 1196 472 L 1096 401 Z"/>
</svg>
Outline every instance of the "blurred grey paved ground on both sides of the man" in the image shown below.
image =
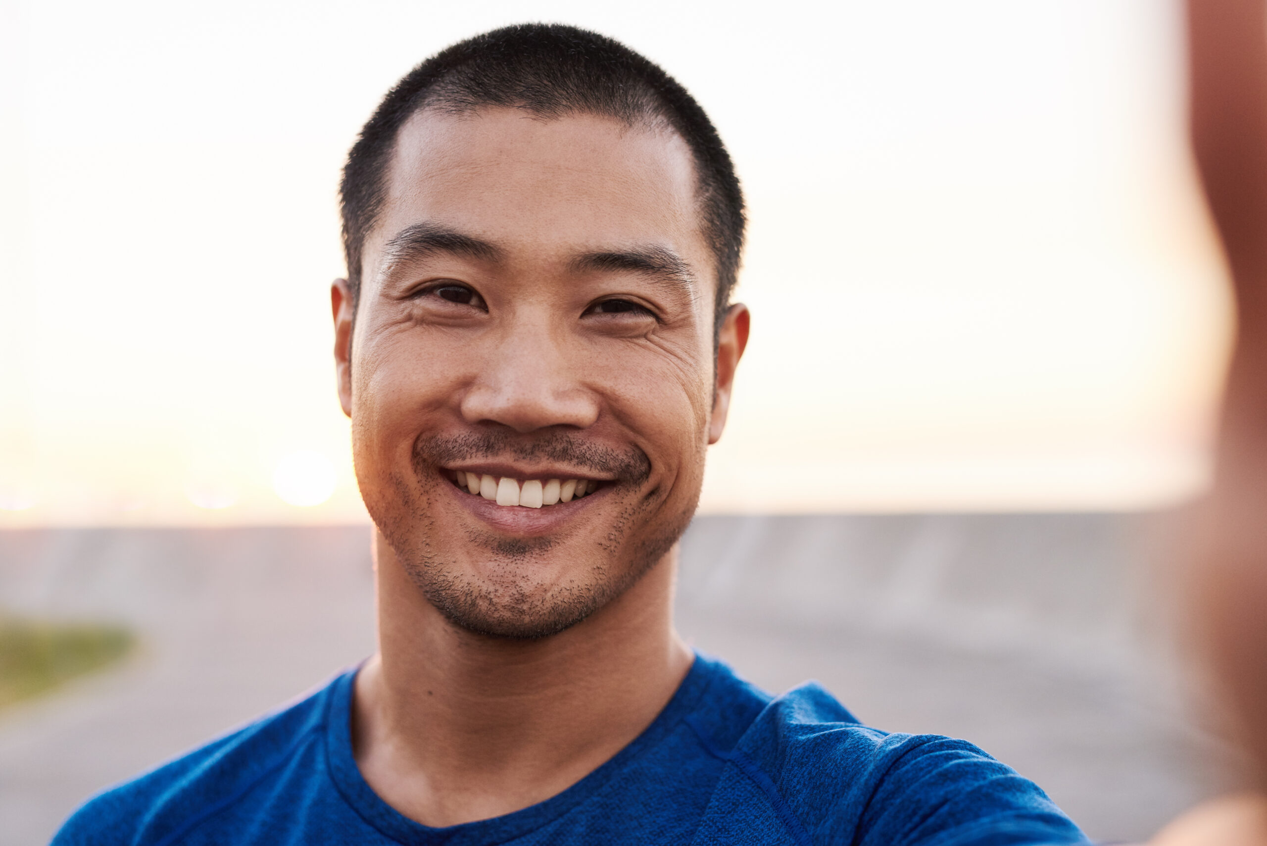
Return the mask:
<svg viewBox="0 0 1267 846">
<path fill-rule="evenodd" d="M 1156 521 L 1152 521 L 1156 523 Z M 758 684 L 816 678 L 863 721 L 967 737 L 1093 837 L 1143 838 L 1223 784 L 1149 634 L 1139 517 L 702 518 L 682 631 Z M 0 532 L 0 608 L 114 619 L 119 670 L 0 713 L 0 846 L 372 648 L 365 528 Z"/>
</svg>

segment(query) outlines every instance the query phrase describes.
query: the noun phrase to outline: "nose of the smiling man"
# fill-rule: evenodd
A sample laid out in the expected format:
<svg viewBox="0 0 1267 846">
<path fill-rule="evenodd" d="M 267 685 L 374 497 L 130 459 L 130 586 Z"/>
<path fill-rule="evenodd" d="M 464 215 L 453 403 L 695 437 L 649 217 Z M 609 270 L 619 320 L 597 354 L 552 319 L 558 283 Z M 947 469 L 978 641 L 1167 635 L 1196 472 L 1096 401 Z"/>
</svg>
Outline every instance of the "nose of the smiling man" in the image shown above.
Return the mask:
<svg viewBox="0 0 1267 846">
<path fill-rule="evenodd" d="M 523 433 L 551 426 L 588 428 L 598 419 L 598 398 L 582 377 L 583 342 L 537 320 L 508 327 L 489 342 L 461 400 L 468 423 L 498 423 Z"/>
</svg>

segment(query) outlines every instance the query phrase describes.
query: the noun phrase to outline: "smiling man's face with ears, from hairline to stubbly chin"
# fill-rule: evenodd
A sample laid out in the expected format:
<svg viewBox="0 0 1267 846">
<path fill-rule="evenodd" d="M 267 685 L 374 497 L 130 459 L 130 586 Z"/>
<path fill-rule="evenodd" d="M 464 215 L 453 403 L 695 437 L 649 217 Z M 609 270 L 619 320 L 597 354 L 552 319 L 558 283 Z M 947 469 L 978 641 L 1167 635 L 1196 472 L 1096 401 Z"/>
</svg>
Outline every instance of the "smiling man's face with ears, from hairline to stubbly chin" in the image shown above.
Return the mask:
<svg viewBox="0 0 1267 846">
<path fill-rule="evenodd" d="M 365 256 L 355 332 L 333 294 L 341 396 L 413 583 L 511 637 L 620 595 L 694 512 L 746 341 L 736 308 L 715 380 L 687 146 L 592 115 L 419 113 Z"/>
</svg>

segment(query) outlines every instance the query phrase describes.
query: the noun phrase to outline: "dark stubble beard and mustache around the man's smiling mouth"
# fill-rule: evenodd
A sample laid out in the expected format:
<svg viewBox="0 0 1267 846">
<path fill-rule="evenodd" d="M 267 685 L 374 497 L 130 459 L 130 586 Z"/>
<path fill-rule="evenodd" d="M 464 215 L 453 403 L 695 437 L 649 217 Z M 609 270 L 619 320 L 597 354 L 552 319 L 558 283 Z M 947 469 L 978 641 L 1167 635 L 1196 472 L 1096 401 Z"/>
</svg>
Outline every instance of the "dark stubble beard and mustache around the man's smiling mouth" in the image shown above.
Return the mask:
<svg viewBox="0 0 1267 846">
<path fill-rule="evenodd" d="M 484 578 L 466 575 L 452 552 L 440 548 L 436 521 L 437 479 L 432 467 L 456 460 L 514 455 L 550 457 L 573 466 L 616 475 L 608 496 L 623 500 L 606 537 L 590 547 L 585 570 L 563 585 L 545 585 L 536 574 L 551 555 L 563 552 L 560 538 L 504 538 L 471 529 L 466 548 L 487 556 Z M 450 624 L 487 637 L 537 640 L 557 634 L 590 617 L 651 571 L 678 542 L 699 499 L 698 484 L 684 508 L 658 514 L 664 505 L 656 490 L 642 491 L 650 476 L 645 453 L 618 453 L 587 445 L 573 436 L 551 436 L 530 443 L 495 434 L 419 438 L 413 472 L 390 476 L 394 502 L 371 508 L 413 585 Z M 412 476 L 412 477 L 411 477 Z M 366 500 L 369 505 L 369 500 Z"/>
</svg>

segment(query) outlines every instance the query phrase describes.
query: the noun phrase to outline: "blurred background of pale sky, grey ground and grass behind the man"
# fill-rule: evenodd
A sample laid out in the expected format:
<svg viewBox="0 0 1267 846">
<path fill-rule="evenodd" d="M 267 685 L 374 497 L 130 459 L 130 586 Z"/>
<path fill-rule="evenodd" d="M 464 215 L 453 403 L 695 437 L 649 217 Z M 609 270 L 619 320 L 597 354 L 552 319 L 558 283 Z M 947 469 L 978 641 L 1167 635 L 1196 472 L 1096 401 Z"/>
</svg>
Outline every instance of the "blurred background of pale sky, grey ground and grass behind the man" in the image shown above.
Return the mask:
<svg viewBox="0 0 1267 846">
<path fill-rule="evenodd" d="M 1171 0 L 0 0 L 0 843 L 372 650 L 336 186 L 519 20 L 710 111 L 754 313 L 679 626 L 968 737 L 1097 838 L 1235 779 L 1164 569 L 1230 329 Z"/>
</svg>

